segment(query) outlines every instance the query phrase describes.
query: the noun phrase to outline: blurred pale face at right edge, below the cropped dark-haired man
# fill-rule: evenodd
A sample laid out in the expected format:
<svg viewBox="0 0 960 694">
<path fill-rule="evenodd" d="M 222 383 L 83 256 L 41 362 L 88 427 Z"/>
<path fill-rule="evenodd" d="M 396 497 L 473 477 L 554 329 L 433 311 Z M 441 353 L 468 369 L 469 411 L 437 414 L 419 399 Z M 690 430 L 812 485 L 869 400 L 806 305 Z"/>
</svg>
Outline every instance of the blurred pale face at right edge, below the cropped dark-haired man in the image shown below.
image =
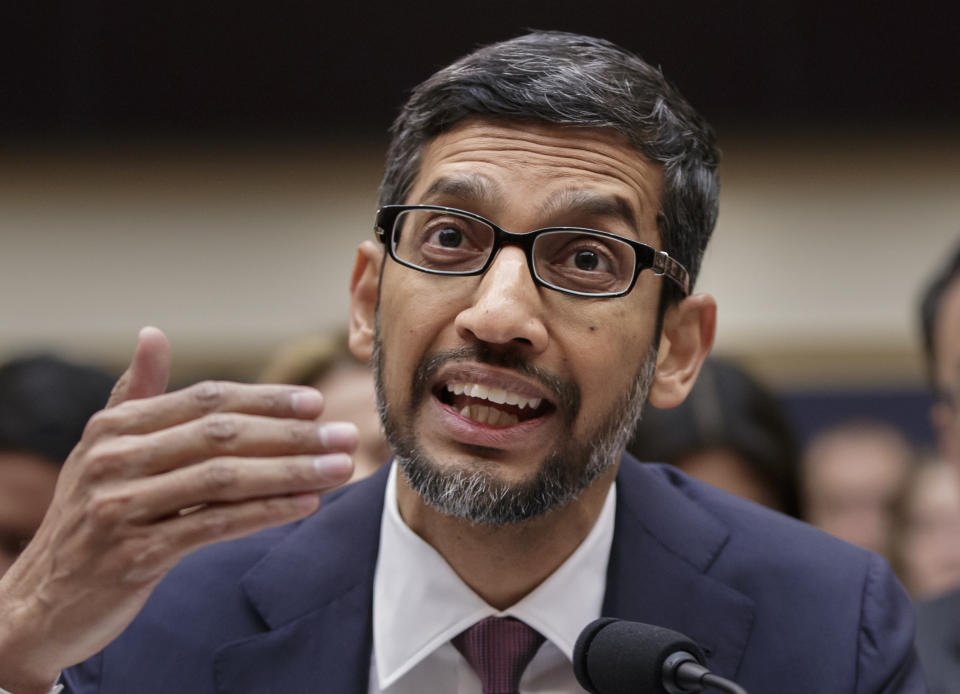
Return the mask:
<svg viewBox="0 0 960 694">
<path fill-rule="evenodd" d="M 915 598 L 960 587 L 960 477 L 943 458 L 911 466 L 894 510 L 890 558 Z"/>
</svg>

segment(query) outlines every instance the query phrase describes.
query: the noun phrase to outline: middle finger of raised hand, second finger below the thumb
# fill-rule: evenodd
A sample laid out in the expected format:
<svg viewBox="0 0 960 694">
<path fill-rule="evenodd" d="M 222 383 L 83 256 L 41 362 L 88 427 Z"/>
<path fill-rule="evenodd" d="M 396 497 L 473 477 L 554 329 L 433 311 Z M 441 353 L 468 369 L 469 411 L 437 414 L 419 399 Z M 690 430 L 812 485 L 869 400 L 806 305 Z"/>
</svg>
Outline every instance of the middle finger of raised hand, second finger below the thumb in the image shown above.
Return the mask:
<svg viewBox="0 0 960 694">
<path fill-rule="evenodd" d="M 87 453 L 91 480 L 156 475 L 224 456 L 353 453 L 355 424 L 217 413 L 142 436 L 108 437 Z"/>
</svg>

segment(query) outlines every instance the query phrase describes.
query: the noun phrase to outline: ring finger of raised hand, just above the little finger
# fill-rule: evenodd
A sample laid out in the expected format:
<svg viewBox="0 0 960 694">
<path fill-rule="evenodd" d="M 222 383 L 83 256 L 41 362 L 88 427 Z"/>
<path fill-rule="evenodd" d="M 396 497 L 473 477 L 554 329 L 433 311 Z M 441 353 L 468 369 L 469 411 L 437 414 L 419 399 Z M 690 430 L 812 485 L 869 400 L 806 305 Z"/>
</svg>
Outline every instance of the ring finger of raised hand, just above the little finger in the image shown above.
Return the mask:
<svg viewBox="0 0 960 694">
<path fill-rule="evenodd" d="M 350 479 L 345 453 L 282 458 L 215 458 L 117 488 L 136 523 L 150 523 L 199 505 L 322 492 Z M 121 501 L 121 503 L 124 503 Z"/>
</svg>

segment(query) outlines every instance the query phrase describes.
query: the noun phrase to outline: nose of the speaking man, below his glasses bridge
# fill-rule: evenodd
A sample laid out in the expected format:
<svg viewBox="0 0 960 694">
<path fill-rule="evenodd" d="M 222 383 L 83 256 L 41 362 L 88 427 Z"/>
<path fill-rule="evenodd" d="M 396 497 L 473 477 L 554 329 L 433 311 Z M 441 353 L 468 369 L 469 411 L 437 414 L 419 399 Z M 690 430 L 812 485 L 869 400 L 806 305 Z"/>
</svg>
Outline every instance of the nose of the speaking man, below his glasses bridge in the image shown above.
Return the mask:
<svg viewBox="0 0 960 694">
<path fill-rule="evenodd" d="M 543 311 L 523 249 L 504 246 L 481 277 L 470 306 L 457 314 L 455 325 L 466 340 L 522 345 L 527 352 L 539 353 L 548 342 Z"/>
</svg>

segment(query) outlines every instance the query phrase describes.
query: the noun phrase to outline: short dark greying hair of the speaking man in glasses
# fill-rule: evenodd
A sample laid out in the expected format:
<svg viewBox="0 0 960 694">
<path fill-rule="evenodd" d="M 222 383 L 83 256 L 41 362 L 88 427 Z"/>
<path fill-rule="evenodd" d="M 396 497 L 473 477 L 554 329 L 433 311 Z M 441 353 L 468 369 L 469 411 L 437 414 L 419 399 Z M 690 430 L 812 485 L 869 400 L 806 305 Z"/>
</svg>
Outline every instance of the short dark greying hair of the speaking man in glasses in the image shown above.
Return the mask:
<svg viewBox="0 0 960 694">
<path fill-rule="evenodd" d="M 717 218 L 719 153 L 710 126 L 660 70 L 609 41 L 563 32 L 480 48 L 413 90 L 393 124 L 380 204 L 405 202 L 423 148 L 477 115 L 610 128 L 663 164 L 661 243 L 693 286 Z"/>
</svg>

